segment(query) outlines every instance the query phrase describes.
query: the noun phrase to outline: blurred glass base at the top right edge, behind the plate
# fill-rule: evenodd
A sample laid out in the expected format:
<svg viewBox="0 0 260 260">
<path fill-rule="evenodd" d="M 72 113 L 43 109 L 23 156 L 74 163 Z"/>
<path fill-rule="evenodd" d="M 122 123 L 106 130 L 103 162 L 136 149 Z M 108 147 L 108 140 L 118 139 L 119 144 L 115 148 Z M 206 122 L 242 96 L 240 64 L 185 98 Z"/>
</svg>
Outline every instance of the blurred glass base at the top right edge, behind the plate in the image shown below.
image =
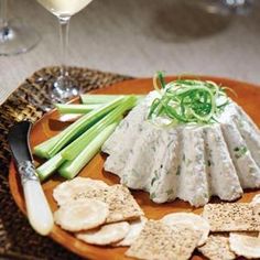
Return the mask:
<svg viewBox="0 0 260 260">
<path fill-rule="evenodd" d="M 252 0 L 202 0 L 199 6 L 209 13 L 216 14 L 248 14 Z"/>
</svg>

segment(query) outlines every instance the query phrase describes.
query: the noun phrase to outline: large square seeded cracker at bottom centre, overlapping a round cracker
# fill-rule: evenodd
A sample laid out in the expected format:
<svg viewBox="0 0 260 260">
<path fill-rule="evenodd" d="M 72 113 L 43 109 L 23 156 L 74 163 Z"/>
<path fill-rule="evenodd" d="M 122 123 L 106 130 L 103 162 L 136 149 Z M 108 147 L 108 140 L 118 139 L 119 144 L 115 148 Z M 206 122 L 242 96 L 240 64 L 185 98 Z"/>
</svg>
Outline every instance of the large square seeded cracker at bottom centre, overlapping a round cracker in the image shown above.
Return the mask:
<svg viewBox="0 0 260 260">
<path fill-rule="evenodd" d="M 199 240 L 199 234 L 187 227 L 172 227 L 149 220 L 140 236 L 127 250 L 128 257 L 139 259 L 189 259 Z"/>
</svg>

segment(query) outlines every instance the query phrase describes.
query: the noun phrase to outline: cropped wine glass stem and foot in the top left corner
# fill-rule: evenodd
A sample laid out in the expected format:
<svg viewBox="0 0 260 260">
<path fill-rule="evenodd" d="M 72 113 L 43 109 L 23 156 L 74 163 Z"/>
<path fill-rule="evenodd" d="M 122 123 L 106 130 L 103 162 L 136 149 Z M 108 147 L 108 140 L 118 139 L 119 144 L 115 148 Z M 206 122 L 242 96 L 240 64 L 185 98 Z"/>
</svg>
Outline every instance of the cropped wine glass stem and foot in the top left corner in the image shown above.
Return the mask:
<svg viewBox="0 0 260 260">
<path fill-rule="evenodd" d="M 0 0 L 0 56 L 15 55 L 33 48 L 41 40 L 30 26 L 8 20 L 8 0 Z"/>
</svg>

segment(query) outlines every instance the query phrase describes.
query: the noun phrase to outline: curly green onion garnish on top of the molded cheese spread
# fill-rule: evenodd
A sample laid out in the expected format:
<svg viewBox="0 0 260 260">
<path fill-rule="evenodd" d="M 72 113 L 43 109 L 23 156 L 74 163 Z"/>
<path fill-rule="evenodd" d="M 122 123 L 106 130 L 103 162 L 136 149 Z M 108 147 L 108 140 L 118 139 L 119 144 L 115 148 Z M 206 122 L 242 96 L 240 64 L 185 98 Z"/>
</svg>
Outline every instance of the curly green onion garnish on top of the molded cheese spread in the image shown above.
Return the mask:
<svg viewBox="0 0 260 260">
<path fill-rule="evenodd" d="M 169 123 L 210 123 L 229 104 L 225 90 L 209 80 L 177 79 L 165 84 L 163 73 L 154 75 L 154 89 L 159 93 L 148 115 L 148 119 L 167 119 Z M 160 83 L 160 84 L 158 84 Z M 160 87 L 159 87 L 160 85 Z"/>
</svg>

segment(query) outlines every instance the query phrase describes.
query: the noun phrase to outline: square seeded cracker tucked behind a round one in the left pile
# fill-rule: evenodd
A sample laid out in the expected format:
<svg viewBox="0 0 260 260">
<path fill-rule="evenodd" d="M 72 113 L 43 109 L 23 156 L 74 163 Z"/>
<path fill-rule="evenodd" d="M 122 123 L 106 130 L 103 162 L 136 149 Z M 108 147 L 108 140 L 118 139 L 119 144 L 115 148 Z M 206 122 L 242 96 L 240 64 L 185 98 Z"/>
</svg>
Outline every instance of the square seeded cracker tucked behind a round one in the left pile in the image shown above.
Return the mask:
<svg viewBox="0 0 260 260">
<path fill-rule="evenodd" d="M 75 199 L 83 197 L 96 198 L 109 205 L 106 223 L 134 220 L 144 215 L 130 191 L 121 184 L 93 188 L 78 194 Z"/>
</svg>

